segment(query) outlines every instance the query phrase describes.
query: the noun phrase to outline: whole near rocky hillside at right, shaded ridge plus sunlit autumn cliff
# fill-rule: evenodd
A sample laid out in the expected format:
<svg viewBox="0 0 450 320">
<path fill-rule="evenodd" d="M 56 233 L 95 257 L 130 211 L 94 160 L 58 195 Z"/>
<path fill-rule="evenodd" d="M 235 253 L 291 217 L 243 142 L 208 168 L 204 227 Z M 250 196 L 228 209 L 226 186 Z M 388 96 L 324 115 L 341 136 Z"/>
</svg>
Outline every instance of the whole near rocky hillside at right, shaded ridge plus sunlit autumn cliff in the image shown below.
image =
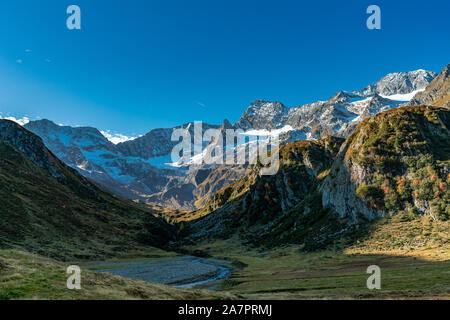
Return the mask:
<svg viewBox="0 0 450 320">
<path fill-rule="evenodd" d="M 345 142 L 288 143 L 275 176 L 256 166 L 195 212 L 189 240 L 238 236 L 313 250 L 350 243 L 369 222 L 399 212 L 448 220 L 449 128 L 447 108 L 402 107 L 367 118 Z"/>
</svg>

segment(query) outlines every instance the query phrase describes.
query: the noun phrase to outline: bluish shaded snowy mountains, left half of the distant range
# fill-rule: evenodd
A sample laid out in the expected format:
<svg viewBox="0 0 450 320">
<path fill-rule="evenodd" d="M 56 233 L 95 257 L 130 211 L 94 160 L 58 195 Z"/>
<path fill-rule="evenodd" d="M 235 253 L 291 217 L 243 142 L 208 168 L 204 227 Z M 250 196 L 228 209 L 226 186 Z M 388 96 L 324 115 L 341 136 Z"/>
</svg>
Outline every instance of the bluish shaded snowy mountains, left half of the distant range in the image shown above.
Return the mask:
<svg viewBox="0 0 450 320">
<path fill-rule="evenodd" d="M 25 127 L 41 136 L 45 144 L 66 164 L 78 170 L 107 190 L 125 198 L 138 199 L 171 208 L 196 209 L 195 201 L 211 194 L 207 188 L 197 188 L 198 176 L 204 170 L 209 173 L 215 167 L 192 166 L 171 169 L 155 167 L 153 161 L 171 162 L 170 153 L 179 141 L 171 141 L 173 130 L 184 128 L 194 137 L 194 124 L 170 129 L 155 129 L 144 137 L 114 145 L 97 129 L 89 127 L 58 126 L 49 120 L 31 121 Z M 233 128 L 225 120 L 222 126 L 202 124 L 203 133 L 208 129 Z M 158 162 L 158 161 L 155 161 Z M 242 170 L 222 172 L 216 182 L 210 182 L 213 190 L 240 178 Z M 217 176 L 216 173 L 212 173 Z M 209 178 L 210 180 L 211 178 Z M 205 194 L 203 194 L 205 192 Z"/>
</svg>

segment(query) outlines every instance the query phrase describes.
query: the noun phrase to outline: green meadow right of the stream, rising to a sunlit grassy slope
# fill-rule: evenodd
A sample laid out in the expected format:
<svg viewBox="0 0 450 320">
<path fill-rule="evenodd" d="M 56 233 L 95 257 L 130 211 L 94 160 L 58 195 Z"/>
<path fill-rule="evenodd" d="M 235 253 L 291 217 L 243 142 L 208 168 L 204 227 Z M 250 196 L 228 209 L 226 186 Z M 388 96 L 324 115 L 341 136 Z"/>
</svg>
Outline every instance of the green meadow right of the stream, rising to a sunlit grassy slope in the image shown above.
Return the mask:
<svg viewBox="0 0 450 320">
<path fill-rule="evenodd" d="M 237 270 L 220 289 L 246 299 L 450 299 L 449 230 L 449 221 L 399 214 L 327 251 L 250 249 L 237 239 L 187 249 L 234 261 Z M 367 289 L 370 265 L 381 268 L 381 290 Z"/>
</svg>

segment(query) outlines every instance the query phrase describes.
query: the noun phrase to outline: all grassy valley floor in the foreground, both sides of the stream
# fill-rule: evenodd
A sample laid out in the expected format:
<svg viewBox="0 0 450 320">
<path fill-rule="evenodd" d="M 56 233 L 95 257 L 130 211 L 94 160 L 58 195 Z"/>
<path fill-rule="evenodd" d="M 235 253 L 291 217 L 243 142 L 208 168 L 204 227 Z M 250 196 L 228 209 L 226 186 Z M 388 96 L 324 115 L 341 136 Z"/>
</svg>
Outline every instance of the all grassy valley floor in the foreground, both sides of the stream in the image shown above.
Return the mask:
<svg viewBox="0 0 450 320">
<path fill-rule="evenodd" d="M 450 300 L 449 224 L 398 214 L 377 221 L 351 246 L 336 244 L 319 252 L 304 252 L 302 245 L 250 248 L 236 238 L 184 247 L 233 262 L 234 273 L 217 284 L 218 291 L 154 285 L 93 272 L 83 264 L 82 290 L 68 290 L 66 264 L 0 250 L 0 299 Z M 152 249 L 127 259 L 174 256 Z M 381 268 L 380 290 L 367 289 L 370 265 Z"/>
</svg>

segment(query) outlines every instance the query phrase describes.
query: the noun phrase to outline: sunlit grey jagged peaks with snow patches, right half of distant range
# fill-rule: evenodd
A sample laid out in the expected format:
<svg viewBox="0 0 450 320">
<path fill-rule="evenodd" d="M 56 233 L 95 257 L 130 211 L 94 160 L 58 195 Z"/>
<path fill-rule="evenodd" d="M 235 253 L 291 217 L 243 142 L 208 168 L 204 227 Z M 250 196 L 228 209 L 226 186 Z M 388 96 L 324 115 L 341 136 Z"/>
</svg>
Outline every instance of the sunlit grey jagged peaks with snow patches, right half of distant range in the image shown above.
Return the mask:
<svg viewBox="0 0 450 320">
<path fill-rule="evenodd" d="M 280 129 L 290 126 L 292 136 L 320 139 L 327 135 L 347 137 L 359 122 L 404 103 L 399 95 L 424 90 L 436 73 L 425 70 L 391 73 L 361 91 L 340 91 L 328 101 L 286 108 L 280 102 L 257 100 L 244 112 L 236 127 Z M 392 99 L 387 97 L 394 96 Z M 410 98 L 405 98 L 410 99 Z M 303 135 L 304 133 L 304 135 Z M 288 135 L 287 140 L 292 141 Z"/>
</svg>

